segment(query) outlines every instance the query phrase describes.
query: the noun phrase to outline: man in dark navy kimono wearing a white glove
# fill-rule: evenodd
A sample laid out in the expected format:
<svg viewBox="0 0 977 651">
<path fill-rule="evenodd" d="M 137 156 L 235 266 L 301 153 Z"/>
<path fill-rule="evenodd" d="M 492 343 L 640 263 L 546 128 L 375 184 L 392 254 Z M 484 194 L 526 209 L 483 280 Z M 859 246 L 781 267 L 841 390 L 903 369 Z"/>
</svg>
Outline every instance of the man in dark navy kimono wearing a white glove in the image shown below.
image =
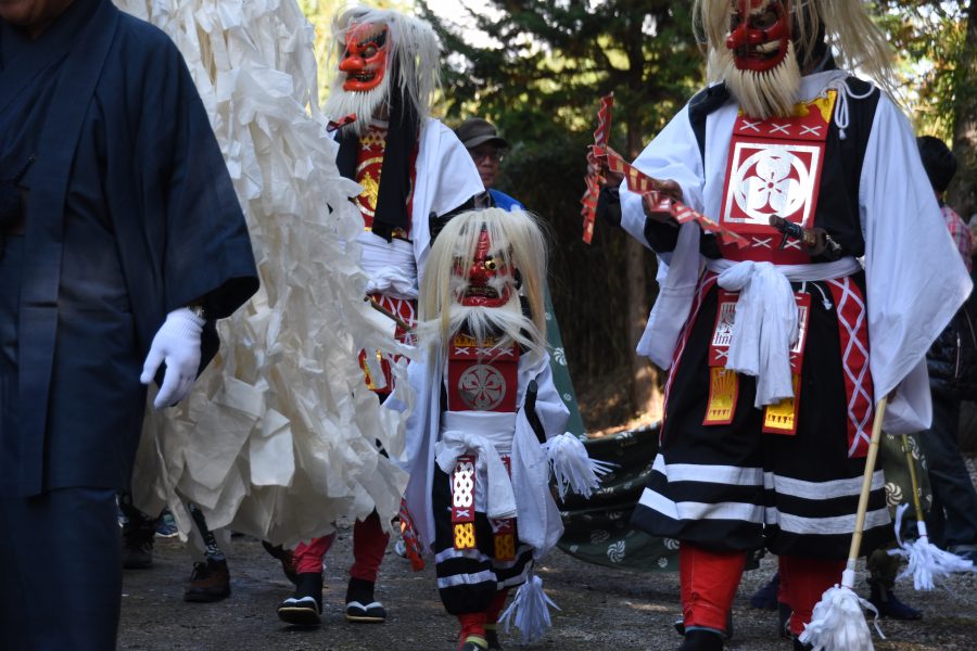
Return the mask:
<svg viewBox="0 0 977 651">
<path fill-rule="evenodd" d="M 0 0 L 4 649 L 115 648 L 140 375 L 181 399 L 256 289 L 173 42 L 110 0 Z"/>
</svg>

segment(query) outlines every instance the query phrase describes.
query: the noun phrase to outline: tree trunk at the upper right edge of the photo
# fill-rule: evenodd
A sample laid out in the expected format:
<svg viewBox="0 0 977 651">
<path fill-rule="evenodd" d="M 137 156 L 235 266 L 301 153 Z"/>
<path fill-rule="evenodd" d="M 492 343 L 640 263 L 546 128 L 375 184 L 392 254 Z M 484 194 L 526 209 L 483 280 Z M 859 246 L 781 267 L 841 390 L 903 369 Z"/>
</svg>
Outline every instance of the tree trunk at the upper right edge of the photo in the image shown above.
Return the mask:
<svg viewBox="0 0 977 651">
<path fill-rule="evenodd" d="M 977 79 L 977 9 L 973 0 L 967 10 L 967 36 L 960 65 L 964 71 L 960 78 Z M 977 88 L 965 82 L 956 94 L 953 152 L 960 166 L 948 203 L 967 220 L 977 213 Z"/>
</svg>

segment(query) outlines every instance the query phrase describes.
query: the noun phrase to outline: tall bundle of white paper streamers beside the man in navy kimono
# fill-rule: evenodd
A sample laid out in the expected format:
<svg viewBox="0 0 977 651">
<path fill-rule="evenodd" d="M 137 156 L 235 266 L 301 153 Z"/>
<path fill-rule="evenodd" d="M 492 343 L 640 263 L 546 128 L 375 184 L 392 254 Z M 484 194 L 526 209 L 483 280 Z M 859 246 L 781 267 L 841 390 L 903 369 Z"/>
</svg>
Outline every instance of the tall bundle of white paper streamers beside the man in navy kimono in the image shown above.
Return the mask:
<svg viewBox="0 0 977 651">
<path fill-rule="evenodd" d="M 357 362 L 393 322 L 364 303 L 363 219 L 339 176 L 316 90 L 314 34 L 295 0 L 116 0 L 176 41 L 248 218 L 262 289 L 218 323 L 221 350 L 190 398 L 151 414 L 134 493 L 182 502 L 214 528 L 293 544 L 340 515 L 397 513 L 399 416 L 377 408 Z M 401 369 L 403 371 L 403 369 Z M 406 386 L 406 382 L 402 383 Z"/>
</svg>

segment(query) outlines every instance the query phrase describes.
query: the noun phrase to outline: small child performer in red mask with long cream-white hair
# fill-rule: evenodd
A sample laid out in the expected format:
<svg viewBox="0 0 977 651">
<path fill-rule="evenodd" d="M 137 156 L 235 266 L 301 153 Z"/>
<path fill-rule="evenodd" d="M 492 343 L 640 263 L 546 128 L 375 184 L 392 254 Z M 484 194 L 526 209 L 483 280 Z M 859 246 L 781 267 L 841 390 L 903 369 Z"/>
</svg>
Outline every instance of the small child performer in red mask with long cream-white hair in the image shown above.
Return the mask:
<svg viewBox="0 0 977 651">
<path fill-rule="evenodd" d="M 583 445 L 563 434 L 544 334 L 546 257 L 529 214 L 468 212 L 437 235 L 421 283 L 406 500 L 460 622 L 459 651 L 500 648 L 496 622 L 523 584 L 510 611 L 524 640 L 542 635 L 547 600 L 533 562 L 563 531 L 549 468 L 561 492 L 597 483 Z"/>
</svg>

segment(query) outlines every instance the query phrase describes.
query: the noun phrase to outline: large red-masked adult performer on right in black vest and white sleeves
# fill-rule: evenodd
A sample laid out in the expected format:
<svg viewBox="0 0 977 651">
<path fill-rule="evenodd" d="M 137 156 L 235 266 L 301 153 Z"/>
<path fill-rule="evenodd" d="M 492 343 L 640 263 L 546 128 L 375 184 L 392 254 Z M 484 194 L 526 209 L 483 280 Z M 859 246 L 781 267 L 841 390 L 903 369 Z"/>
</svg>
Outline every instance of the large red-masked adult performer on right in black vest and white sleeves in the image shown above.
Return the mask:
<svg viewBox="0 0 977 651">
<path fill-rule="evenodd" d="M 763 545 L 803 630 L 840 583 L 874 405 L 890 396 L 890 433 L 926 426 L 925 354 L 970 289 L 862 2 L 697 0 L 695 14 L 710 86 L 634 165 L 747 243 L 621 190 L 621 225 L 667 265 L 638 346 L 669 369 L 661 448 L 633 522 L 681 542 L 686 651 L 723 648 Z M 853 64 L 878 86 L 839 67 Z M 888 524 L 878 470 L 863 549 Z"/>
</svg>

